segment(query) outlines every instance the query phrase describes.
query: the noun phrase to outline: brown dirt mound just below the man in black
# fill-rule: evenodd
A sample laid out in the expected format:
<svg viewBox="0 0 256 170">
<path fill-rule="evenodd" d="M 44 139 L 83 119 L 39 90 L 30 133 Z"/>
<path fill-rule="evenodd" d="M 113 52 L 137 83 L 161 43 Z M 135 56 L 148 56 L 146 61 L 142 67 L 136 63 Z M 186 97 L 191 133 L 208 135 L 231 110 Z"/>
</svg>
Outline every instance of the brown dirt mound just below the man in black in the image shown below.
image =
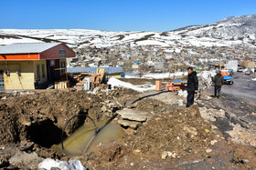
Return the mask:
<svg viewBox="0 0 256 170">
<path fill-rule="evenodd" d="M 176 155 L 205 152 L 213 133 L 200 116 L 197 105 L 188 109 L 176 107 L 172 112 L 154 115 L 128 139 L 134 150 L 160 155 L 164 151 Z"/>
</svg>

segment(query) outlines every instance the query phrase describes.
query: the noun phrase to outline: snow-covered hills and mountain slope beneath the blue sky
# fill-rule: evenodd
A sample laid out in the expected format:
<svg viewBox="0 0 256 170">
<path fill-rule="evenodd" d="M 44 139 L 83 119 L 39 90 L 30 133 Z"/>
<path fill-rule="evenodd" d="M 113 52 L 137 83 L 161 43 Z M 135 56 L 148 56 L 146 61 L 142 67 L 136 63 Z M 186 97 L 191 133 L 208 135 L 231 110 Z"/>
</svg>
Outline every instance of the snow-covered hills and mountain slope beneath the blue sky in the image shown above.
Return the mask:
<svg viewBox="0 0 256 170">
<path fill-rule="evenodd" d="M 194 25 L 164 33 L 109 32 L 86 29 L 0 30 L 0 45 L 11 43 L 64 42 L 69 46 L 156 45 L 256 47 L 256 15 L 223 19 L 211 25 Z"/>
</svg>

